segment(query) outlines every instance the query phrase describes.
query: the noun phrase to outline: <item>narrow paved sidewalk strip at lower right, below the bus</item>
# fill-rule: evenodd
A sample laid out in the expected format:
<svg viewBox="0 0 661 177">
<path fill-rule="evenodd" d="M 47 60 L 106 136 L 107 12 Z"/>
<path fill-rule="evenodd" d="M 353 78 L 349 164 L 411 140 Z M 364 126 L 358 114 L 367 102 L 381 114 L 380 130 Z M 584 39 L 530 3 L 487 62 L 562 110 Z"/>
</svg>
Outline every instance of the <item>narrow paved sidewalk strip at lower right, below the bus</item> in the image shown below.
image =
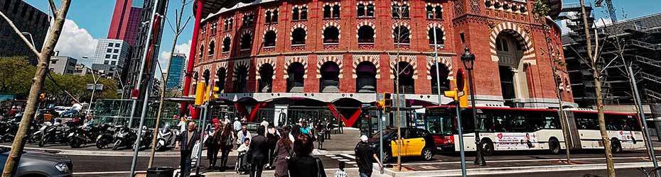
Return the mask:
<svg viewBox="0 0 661 177">
<path fill-rule="evenodd" d="M 571 161 L 566 164 L 561 159 L 525 159 L 525 160 L 502 160 L 487 161 L 488 166 L 477 166 L 472 161 L 466 162 L 468 176 L 507 174 L 507 173 L 532 173 L 544 171 L 581 171 L 606 169 L 606 159 L 584 158 Z M 630 169 L 652 166 L 652 162 L 639 157 L 616 158 L 616 169 Z M 377 171 L 375 166 L 375 171 Z M 394 166 L 385 168 L 387 176 L 461 176 L 461 162 L 432 162 L 419 164 L 403 164 L 402 171 L 397 171 Z"/>
</svg>

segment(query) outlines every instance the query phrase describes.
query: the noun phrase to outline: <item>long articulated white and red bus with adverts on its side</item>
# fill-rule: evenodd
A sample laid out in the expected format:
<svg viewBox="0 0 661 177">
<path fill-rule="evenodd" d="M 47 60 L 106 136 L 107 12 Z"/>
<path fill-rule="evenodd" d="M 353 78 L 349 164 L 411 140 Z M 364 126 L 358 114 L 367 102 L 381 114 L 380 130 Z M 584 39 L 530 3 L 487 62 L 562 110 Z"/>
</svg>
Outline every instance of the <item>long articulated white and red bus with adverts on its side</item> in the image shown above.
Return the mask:
<svg viewBox="0 0 661 177">
<path fill-rule="evenodd" d="M 603 149 L 597 112 L 586 109 L 566 109 L 566 121 L 556 109 L 477 107 L 480 144 L 485 155 L 497 151 L 547 150 L 558 154 L 566 149 L 562 128 L 568 128 L 570 149 Z M 635 114 L 604 113 L 606 130 L 613 152 L 643 149 L 643 132 Z M 426 108 L 426 130 L 434 137 L 436 148 L 459 151 L 456 107 L 441 105 Z M 475 151 L 473 110 L 461 110 L 464 149 Z"/>
</svg>

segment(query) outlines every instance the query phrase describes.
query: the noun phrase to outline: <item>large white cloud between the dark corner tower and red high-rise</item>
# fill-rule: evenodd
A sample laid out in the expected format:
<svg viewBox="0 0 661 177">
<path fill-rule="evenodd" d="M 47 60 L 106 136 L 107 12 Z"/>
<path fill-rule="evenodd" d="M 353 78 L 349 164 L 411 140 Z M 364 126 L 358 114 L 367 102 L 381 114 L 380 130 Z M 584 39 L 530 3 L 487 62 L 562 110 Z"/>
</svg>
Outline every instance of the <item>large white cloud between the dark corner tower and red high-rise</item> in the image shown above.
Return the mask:
<svg viewBox="0 0 661 177">
<path fill-rule="evenodd" d="M 92 38 L 85 28 L 80 28 L 75 21 L 66 19 L 55 51 L 60 51 L 60 56 L 74 57 L 78 59 L 78 63 L 92 67 L 92 57 L 94 57 L 97 42 L 98 40 Z M 90 57 L 90 59 L 83 59 L 82 56 Z"/>
</svg>

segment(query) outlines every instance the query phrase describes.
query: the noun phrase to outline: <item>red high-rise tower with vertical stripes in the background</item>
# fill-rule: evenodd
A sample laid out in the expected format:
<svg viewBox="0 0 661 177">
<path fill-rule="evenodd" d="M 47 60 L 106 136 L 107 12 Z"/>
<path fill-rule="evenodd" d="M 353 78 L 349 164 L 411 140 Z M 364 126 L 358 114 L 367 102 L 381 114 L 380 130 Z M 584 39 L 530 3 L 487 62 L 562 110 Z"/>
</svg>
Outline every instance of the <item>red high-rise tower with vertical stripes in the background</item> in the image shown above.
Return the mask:
<svg viewBox="0 0 661 177">
<path fill-rule="evenodd" d="M 142 8 L 131 6 L 131 4 L 134 4 L 133 0 L 117 0 L 108 30 L 108 38 L 124 40 L 129 45 L 135 46 Z"/>
</svg>

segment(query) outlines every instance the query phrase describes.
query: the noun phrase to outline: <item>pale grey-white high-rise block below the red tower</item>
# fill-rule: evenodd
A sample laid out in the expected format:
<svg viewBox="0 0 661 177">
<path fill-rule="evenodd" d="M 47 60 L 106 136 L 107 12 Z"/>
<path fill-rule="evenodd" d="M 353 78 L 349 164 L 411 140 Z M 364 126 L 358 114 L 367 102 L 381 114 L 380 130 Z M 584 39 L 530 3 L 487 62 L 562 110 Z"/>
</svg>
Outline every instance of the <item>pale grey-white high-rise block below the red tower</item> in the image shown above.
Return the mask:
<svg viewBox="0 0 661 177">
<path fill-rule="evenodd" d="M 129 57 L 129 43 L 124 40 L 100 39 L 92 58 L 92 69 L 109 77 L 124 72 Z"/>
</svg>

